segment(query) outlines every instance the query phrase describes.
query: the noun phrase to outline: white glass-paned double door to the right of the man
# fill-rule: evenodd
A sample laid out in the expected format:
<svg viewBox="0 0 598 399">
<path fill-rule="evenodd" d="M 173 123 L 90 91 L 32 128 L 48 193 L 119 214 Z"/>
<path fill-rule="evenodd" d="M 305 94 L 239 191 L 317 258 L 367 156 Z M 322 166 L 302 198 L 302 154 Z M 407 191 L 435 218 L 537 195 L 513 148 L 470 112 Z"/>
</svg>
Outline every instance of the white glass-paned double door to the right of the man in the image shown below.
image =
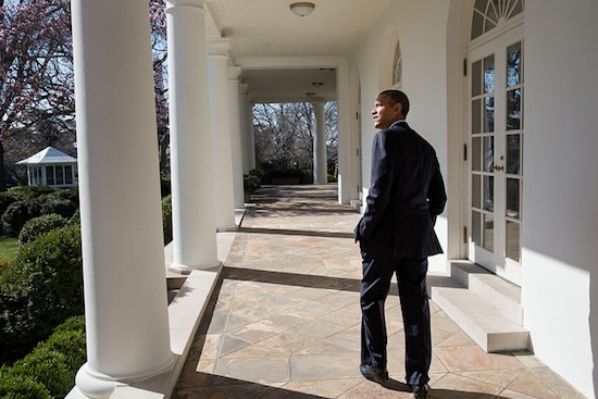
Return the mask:
<svg viewBox="0 0 598 399">
<path fill-rule="evenodd" d="M 523 27 L 471 50 L 469 76 L 469 251 L 521 284 Z"/>
</svg>

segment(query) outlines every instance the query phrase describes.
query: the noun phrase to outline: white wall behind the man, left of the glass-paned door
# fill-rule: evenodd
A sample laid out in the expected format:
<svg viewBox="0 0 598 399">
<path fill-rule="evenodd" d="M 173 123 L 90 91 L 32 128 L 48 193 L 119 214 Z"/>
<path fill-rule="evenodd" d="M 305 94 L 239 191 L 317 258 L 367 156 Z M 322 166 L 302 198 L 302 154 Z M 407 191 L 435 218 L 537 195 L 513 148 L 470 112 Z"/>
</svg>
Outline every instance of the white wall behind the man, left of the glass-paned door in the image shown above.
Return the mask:
<svg viewBox="0 0 598 399">
<path fill-rule="evenodd" d="M 377 95 L 390 87 L 390 75 L 379 76 L 381 60 L 393 60 L 396 42 L 384 42 L 395 29 L 401 46 L 402 90 L 409 96 L 408 122 L 435 148 L 447 179 L 447 60 L 446 33 L 448 2 L 397 0 L 385 10 L 352 58 L 360 71 L 362 104 L 363 187 L 370 187 L 373 127 L 371 110 Z M 390 35 L 391 36 L 391 35 Z M 388 57 L 390 53 L 390 57 Z M 386 85 L 384 83 L 387 83 Z M 439 217 L 436 228 L 447 251 L 447 223 Z M 444 271 L 446 255 L 431 258 L 431 270 Z"/>
</svg>

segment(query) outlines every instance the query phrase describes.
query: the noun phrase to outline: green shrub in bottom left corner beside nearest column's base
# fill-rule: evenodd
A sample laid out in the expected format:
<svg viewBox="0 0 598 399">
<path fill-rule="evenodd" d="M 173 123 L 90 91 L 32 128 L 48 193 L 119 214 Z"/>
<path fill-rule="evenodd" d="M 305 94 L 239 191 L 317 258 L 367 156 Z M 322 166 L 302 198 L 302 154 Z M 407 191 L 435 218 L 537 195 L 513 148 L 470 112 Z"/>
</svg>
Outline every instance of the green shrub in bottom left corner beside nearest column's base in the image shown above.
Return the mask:
<svg viewBox="0 0 598 399">
<path fill-rule="evenodd" d="M 2 369 L 4 391 L 0 383 L 0 397 L 63 398 L 73 388 L 75 375 L 85 361 L 85 319 L 82 315 L 73 316 L 58 326 L 47 341 L 38 344 L 23 360 L 12 367 Z M 17 390 L 16 387 L 22 385 L 29 390 Z"/>
</svg>

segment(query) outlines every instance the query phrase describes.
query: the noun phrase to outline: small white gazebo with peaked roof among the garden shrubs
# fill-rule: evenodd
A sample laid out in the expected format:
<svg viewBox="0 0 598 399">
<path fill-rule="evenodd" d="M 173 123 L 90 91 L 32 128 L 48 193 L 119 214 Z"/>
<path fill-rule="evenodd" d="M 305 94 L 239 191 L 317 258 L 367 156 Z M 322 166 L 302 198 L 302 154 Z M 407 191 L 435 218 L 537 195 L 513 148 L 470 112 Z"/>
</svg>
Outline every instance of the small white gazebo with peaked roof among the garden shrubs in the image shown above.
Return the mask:
<svg viewBox="0 0 598 399">
<path fill-rule="evenodd" d="M 18 164 L 27 165 L 29 186 L 74 187 L 77 159 L 52 147 L 39 151 Z"/>
</svg>

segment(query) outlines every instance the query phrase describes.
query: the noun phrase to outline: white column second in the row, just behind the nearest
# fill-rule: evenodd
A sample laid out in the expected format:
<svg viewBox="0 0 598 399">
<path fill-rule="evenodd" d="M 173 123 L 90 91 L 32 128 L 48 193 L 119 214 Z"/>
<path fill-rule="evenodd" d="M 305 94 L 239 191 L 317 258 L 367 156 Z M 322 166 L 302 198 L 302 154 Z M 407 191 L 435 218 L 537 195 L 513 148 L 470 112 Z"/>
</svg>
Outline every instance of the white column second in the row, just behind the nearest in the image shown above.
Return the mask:
<svg viewBox="0 0 598 399">
<path fill-rule="evenodd" d="M 173 265 L 220 266 L 203 0 L 166 0 Z"/>
</svg>

